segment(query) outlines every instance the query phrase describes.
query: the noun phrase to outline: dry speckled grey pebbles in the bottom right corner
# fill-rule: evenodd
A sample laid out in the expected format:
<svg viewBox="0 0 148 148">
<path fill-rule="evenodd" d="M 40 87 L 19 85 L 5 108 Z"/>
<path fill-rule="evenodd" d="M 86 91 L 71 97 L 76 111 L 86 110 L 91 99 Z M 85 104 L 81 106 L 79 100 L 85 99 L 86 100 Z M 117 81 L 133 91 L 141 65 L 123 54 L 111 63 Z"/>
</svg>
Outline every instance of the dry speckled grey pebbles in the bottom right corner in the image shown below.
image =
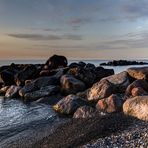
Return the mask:
<svg viewBox="0 0 148 148">
<path fill-rule="evenodd" d="M 148 122 L 135 120 L 123 131 L 98 138 L 83 148 L 148 148 Z"/>
</svg>

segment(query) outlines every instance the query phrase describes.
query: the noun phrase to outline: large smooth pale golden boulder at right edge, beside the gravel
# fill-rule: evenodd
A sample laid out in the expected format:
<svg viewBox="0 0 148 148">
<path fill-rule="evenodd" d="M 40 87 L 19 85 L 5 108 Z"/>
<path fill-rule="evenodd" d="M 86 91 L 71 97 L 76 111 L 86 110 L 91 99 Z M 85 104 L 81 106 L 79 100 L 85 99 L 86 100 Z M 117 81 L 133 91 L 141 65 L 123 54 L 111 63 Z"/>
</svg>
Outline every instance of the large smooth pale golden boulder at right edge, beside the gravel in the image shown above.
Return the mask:
<svg viewBox="0 0 148 148">
<path fill-rule="evenodd" d="M 148 121 L 148 96 L 127 99 L 123 104 L 125 114 Z"/>
</svg>

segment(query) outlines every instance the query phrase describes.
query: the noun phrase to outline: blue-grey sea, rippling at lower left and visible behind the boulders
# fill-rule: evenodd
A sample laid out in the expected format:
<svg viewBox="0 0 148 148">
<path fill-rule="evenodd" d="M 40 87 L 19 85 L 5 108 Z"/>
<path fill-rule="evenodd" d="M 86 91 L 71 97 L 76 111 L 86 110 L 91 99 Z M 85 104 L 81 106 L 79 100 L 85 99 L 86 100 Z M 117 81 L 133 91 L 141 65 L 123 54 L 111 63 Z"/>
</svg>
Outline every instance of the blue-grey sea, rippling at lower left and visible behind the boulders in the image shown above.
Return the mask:
<svg viewBox="0 0 148 148">
<path fill-rule="evenodd" d="M 99 66 L 108 60 L 83 60 Z M 142 60 L 139 60 L 142 61 Z M 78 60 L 71 60 L 78 62 Z M 143 62 L 148 62 L 144 60 Z M 16 64 L 42 64 L 44 60 L 0 60 L 0 66 Z M 126 70 L 129 67 L 142 67 L 144 65 L 132 66 L 104 66 L 114 69 L 115 73 Z M 0 148 L 29 147 L 35 142 L 49 136 L 58 125 L 68 119 L 58 117 L 52 107 L 42 103 L 25 104 L 17 99 L 4 99 L 0 96 Z"/>
</svg>

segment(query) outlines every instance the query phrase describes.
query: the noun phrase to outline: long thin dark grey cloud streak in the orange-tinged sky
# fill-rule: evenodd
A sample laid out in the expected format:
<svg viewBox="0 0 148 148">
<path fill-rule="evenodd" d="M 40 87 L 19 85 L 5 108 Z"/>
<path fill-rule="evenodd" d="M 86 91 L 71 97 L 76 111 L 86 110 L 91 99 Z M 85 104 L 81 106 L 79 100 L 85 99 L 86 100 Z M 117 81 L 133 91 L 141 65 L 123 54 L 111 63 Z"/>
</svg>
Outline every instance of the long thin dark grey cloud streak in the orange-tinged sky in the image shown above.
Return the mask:
<svg viewBox="0 0 148 148">
<path fill-rule="evenodd" d="M 23 34 L 23 33 L 16 33 L 16 34 L 7 34 L 10 37 L 19 38 L 19 39 L 28 39 L 28 40 L 82 40 L 81 35 L 73 35 L 73 34 L 67 34 L 67 35 L 42 35 L 42 34 Z"/>
</svg>

